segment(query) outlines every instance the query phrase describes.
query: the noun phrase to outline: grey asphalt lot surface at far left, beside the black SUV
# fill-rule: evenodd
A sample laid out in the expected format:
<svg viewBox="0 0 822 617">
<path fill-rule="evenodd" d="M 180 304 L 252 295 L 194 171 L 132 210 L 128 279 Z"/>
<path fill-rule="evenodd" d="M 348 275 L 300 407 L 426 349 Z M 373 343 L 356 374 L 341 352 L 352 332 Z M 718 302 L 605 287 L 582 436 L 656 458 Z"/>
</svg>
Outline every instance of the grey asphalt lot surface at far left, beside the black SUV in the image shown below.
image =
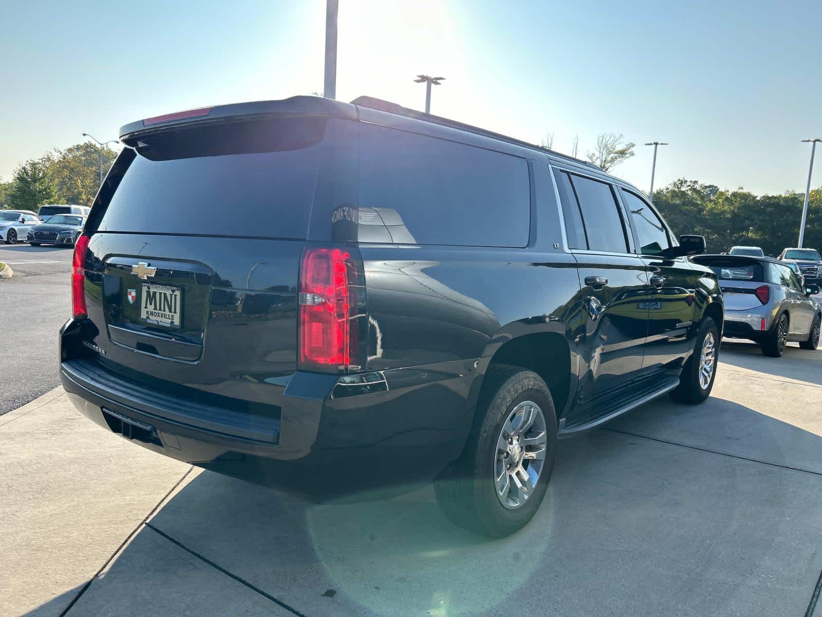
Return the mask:
<svg viewBox="0 0 822 617">
<path fill-rule="evenodd" d="M 57 386 L 57 332 L 72 310 L 72 251 L 0 244 L 0 415 Z"/>
</svg>

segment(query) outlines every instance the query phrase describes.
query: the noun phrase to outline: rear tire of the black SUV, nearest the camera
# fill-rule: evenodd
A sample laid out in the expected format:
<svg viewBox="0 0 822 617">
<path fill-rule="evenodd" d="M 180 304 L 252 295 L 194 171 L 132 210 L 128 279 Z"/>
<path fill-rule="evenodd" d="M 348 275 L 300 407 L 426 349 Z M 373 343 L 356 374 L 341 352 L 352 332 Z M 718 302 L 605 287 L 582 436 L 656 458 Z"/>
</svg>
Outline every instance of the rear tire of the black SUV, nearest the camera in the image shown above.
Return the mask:
<svg viewBox="0 0 822 617">
<path fill-rule="evenodd" d="M 517 418 L 522 420 L 517 422 Z M 541 454 L 538 448 L 543 448 Z M 434 481 L 437 503 L 459 527 L 484 536 L 509 536 L 537 512 L 555 454 L 556 410 L 543 378 L 518 366 L 492 365 L 464 451 Z M 515 471 L 506 471 L 510 467 Z M 527 490 L 520 488 L 524 483 Z M 501 485 L 508 489 L 498 497 Z"/>
</svg>

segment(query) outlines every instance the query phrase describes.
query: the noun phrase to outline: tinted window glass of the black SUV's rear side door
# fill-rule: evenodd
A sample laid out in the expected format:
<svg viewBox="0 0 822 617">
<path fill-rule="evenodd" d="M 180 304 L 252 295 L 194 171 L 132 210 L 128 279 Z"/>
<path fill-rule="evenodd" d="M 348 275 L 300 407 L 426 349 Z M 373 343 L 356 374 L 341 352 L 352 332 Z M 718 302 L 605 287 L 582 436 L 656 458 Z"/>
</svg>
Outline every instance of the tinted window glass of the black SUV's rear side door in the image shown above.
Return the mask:
<svg viewBox="0 0 822 617">
<path fill-rule="evenodd" d="M 570 174 L 592 251 L 627 253 L 628 244 L 610 184 Z"/>
</svg>

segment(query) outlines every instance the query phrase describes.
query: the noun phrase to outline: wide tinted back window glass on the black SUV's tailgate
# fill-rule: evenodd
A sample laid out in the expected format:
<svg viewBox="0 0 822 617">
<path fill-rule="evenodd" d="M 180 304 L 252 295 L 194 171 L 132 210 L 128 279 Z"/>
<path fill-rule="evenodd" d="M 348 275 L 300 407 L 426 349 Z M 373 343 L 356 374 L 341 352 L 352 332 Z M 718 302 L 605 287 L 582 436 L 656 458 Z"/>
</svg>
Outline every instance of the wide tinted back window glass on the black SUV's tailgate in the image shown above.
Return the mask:
<svg viewBox="0 0 822 617">
<path fill-rule="evenodd" d="M 277 118 L 141 139 L 100 231 L 306 237 L 326 118 Z"/>
</svg>

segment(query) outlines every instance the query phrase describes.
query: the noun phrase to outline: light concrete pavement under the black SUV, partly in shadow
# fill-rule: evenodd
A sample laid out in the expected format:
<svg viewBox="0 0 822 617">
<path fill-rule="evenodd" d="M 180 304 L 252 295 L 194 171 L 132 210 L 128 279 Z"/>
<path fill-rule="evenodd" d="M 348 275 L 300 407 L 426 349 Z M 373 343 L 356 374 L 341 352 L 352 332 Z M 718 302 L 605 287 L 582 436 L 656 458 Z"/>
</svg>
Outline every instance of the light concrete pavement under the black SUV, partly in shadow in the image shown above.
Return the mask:
<svg viewBox="0 0 822 617">
<path fill-rule="evenodd" d="M 450 525 L 430 488 L 318 505 L 188 472 L 58 390 L 0 416 L 0 615 L 805 615 L 822 351 L 721 358 L 704 405 L 561 441 L 537 517 L 504 540 Z"/>
</svg>

